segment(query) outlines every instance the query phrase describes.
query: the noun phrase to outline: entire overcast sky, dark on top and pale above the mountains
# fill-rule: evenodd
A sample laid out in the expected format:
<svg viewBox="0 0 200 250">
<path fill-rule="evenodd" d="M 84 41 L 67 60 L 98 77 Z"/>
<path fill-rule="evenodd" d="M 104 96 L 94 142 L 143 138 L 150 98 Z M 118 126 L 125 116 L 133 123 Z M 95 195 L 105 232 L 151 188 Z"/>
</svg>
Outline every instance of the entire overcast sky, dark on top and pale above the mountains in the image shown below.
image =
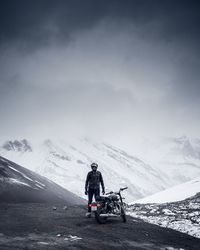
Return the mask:
<svg viewBox="0 0 200 250">
<path fill-rule="evenodd" d="M 200 137 L 200 3 L 1 0 L 5 137 Z"/>
</svg>

